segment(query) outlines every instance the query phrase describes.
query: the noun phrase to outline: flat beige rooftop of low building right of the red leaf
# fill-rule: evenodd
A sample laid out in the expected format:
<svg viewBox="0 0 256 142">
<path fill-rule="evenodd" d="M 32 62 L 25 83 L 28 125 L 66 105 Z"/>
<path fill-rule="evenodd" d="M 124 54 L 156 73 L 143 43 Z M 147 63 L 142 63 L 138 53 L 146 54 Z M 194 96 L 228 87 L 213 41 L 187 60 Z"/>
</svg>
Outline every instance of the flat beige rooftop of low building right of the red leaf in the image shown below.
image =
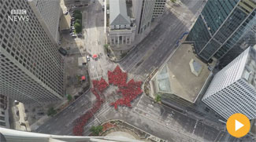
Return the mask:
<svg viewBox="0 0 256 142">
<path fill-rule="evenodd" d="M 191 60 L 194 60 L 201 69 L 198 76 L 191 72 L 189 64 Z M 192 46 L 182 44 L 156 76 L 157 88 L 159 92 L 173 93 L 191 103 L 195 103 L 209 76 L 210 71 L 207 64 L 204 64 L 195 56 Z"/>
</svg>

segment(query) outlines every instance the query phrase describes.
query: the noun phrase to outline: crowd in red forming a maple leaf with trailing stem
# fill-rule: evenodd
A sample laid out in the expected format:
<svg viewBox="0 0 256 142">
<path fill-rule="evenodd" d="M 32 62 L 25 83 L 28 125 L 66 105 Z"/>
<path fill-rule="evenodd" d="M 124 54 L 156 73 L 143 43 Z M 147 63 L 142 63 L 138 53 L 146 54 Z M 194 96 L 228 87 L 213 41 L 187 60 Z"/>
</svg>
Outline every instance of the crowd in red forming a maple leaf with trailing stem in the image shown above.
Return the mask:
<svg viewBox="0 0 256 142">
<path fill-rule="evenodd" d="M 121 68 L 117 66 L 114 71 L 108 71 L 109 84 L 118 86 L 117 93 L 122 94 L 122 98 L 111 103 L 111 106 L 114 106 L 117 109 L 117 106 L 127 106 L 132 107 L 131 102 L 139 94 L 143 93 L 143 90 L 140 88 L 142 82 L 135 82 L 133 79 L 126 83 L 127 73 L 121 71 Z M 83 135 L 83 127 L 87 122 L 93 117 L 98 109 L 102 106 L 104 100 L 101 98 L 99 93 L 103 93 L 104 90 L 109 86 L 109 84 L 101 78 L 101 80 L 92 80 L 93 88 L 91 92 L 96 96 L 95 104 L 91 107 L 90 111 L 87 111 L 85 114 L 76 119 L 76 126 L 73 127 L 73 134 L 76 136 Z"/>
</svg>

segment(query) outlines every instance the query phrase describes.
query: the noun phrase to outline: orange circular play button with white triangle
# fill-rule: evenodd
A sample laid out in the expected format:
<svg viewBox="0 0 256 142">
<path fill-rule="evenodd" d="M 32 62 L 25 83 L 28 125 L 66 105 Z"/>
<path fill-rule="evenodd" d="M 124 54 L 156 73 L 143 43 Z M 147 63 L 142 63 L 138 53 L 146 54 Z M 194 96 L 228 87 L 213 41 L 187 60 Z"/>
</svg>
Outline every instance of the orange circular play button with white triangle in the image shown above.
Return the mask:
<svg viewBox="0 0 256 142">
<path fill-rule="evenodd" d="M 228 118 L 226 127 L 232 137 L 244 137 L 250 131 L 250 120 L 246 115 L 237 113 Z"/>
</svg>

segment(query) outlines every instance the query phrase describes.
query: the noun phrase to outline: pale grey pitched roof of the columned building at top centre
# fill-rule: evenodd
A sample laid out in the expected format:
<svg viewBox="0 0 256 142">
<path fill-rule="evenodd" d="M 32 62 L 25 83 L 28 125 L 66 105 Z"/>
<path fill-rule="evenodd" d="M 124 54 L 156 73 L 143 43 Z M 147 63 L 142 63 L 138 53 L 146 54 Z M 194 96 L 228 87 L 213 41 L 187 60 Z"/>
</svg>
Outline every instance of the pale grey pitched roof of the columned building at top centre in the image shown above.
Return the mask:
<svg viewBox="0 0 256 142">
<path fill-rule="evenodd" d="M 131 24 L 125 0 L 109 0 L 109 24 Z"/>
</svg>

